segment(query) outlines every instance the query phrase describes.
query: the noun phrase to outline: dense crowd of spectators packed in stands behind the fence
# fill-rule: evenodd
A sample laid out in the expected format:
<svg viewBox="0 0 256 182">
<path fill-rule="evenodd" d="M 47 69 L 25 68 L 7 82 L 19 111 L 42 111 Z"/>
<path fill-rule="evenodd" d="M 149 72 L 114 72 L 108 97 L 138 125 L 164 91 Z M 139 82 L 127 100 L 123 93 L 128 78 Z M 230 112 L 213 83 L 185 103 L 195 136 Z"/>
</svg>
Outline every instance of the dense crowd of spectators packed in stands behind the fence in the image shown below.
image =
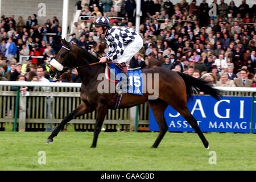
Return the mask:
<svg viewBox="0 0 256 182">
<path fill-rule="evenodd" d="M 128 66 L 164 67 L 208 80 L 214 86 L 256 87 L 256 5 L 249 7 L 245 0 L 240 6 L 224 0 L 216 5 L 217 14 L 209 16 L 205 0 L 200 6 L 194 0 L 190 4 L 185 0 L 176 4 L 170 0 L 142 1 L 139 30 L 144 45 Z M 103 56 L 108 47 L 104 36 L 97 35 L 91 26 L 94 18 L 86 16 L 104 15 L 110 17 L 112 26 L 134 28 L 134 0 L 82 0 L 76 6 L 81 18 L 74 23 L 69 41 L 95 56 Z M 2 15 L 0 28 L 0 80 L 18 81 L 22 75 L 26 81 L 81 82 L 76 69 L 59 80 L 52 80 L 47 72 L 51 58 L 61 48 L 56 17 L 39 25 L 35 14 L 26 22 L 22 16 L 16 21 L 14 16 Z M 26 64 L 19 62 L 19 55 L 28 56 Z"/>
</svg>

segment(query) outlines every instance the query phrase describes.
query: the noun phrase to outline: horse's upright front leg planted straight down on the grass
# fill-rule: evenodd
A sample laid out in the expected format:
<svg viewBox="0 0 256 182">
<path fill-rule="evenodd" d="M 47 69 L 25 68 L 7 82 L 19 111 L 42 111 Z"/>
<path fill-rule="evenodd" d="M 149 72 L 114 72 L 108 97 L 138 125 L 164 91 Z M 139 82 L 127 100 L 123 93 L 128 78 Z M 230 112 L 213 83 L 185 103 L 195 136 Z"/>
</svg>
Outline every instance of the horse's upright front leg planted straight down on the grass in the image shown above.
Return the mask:
<svg viewBox="0 0 256 182">
<path fill-rule="evenodd" d="M 101 126 L 104 122 L 104 118 L 106 116 L 107 111 L 108 108 L 105 105 L 98 105 L 96 108 L 96 123 L 91 148 L 95 148 L 97 145 L 98 134 L 100 134 L 101 132 Z"/>
</svg>

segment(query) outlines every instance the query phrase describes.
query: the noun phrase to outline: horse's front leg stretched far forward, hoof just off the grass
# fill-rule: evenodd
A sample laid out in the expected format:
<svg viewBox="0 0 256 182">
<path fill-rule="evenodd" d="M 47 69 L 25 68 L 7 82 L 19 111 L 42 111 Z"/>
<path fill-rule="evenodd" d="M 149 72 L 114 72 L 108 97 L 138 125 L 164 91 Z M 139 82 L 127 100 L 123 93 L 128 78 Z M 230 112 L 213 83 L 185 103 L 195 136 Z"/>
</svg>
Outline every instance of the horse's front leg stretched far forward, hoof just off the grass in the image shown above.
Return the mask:
<svg viewBox="0 0 256 182">
<path fill-rule="evenodd" d="M 90 113 L 94 111 L 94 108 L 90 106 L 88 102 L 82 102 L 75 110 L 73 110 L 71 113 L 66 115 L 66 117 L 60 122 L 60 125 L 57 126 L 53 131 L 52 134 L 49 135 L 49 137 L 46 140 L 46 143 L 52 143 L 53 137 L 56 137 L 57 134 L 64 128 L 64 125 L 71 121 L 72 119 L 75 119 L 77 117 L 80 117 L 80 115 L 84 115 L 85 113 Z"/>
</svg>

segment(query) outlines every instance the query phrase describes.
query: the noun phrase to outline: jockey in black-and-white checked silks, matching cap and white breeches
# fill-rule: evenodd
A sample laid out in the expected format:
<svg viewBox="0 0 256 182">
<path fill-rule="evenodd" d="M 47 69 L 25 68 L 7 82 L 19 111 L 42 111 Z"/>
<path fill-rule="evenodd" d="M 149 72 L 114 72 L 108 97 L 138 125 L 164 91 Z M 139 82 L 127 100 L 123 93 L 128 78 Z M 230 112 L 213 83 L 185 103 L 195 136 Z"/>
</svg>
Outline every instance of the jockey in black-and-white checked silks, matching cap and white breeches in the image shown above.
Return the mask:
<svg viewBox="0 0 256 182">
<path fill-rule="evenodd" d="M 97 33 L 104 34 L 106 43 L 109 46 L 108 53 L 101 57 L 100 62 L 107 60 L 122 65 L 123 73 L 127 76 L 126 62 L 143 46 L 143 40 L 139 33 L 129 27 L 111 27 L 109 19 L 105 16 L 98 17 L 93 23 Z"/>
</svg>

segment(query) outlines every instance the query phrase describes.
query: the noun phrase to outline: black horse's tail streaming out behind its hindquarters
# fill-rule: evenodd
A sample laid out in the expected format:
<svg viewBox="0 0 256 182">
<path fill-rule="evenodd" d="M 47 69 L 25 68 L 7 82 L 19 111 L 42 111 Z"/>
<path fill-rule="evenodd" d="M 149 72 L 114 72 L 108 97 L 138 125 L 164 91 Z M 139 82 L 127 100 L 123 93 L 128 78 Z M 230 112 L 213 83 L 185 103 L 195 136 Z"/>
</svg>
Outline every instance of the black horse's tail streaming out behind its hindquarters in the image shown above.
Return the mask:
<svg viewBox="0 0 256 182">
<path fill-rule="evenodd" d="M 177 72 L 181 78 L 183 78 L 186 89 L 187 89 L 187 98 L 188 100 L 192 98 L 192 94 L 198 94 L 199 92 L 204 92 L 214 97 L 216 100 L 220 100 L 222 94 L 221 90 L 214 89 L 208 81 L 201 80 L 200 78 L 194 78 L 185 73 Z"/>
</svg>

